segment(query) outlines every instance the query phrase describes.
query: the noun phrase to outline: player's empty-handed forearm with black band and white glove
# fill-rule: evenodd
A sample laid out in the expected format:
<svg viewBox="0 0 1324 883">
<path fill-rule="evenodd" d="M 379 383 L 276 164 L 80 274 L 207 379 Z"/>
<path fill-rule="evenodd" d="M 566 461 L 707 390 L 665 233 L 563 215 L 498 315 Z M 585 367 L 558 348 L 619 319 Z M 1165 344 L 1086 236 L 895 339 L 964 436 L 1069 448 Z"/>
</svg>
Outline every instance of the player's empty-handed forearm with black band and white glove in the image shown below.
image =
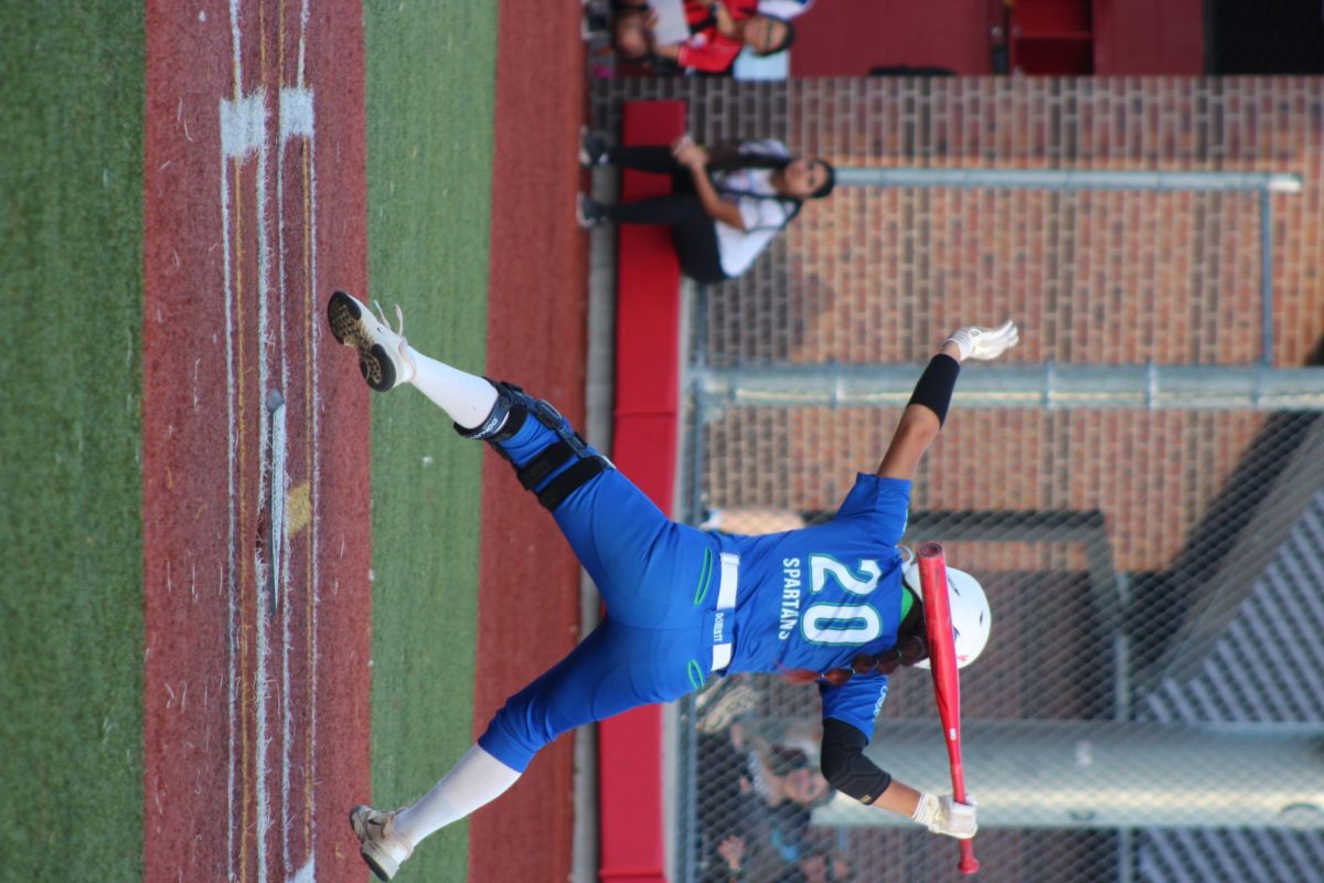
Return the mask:
<svg viewBox="0 0 1324 883">
<path fill-rule="evenodd" d="M 953 331 L 915 384 L 915 393 L 906 405 L 887 453 L 883 454 L 878 474 L 883 478 L 906 481 L 915 478 L 920 458 L 937 438 L 947 418 L 947 408 L 952 404 L 952 392 L 956 389 L 961 363 L 967 359 L 977 361 L 997 359 L 1019 339 L 1016 323 L 1010 319 L 997 328 L 967 326 Z"/>
</svg>

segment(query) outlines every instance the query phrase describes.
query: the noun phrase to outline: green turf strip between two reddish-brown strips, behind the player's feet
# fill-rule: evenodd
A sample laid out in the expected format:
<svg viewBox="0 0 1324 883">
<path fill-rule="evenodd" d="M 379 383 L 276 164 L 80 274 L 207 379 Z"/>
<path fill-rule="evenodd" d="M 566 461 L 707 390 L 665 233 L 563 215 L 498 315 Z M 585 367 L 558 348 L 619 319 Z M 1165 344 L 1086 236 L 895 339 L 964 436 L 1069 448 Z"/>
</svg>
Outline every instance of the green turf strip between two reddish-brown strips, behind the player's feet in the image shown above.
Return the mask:
<svg viewBox="0 0 1324 883">
<path fill-rule="evenodd" d="M 424 352 L 482 371 L 496 4 L 365 4 L 368 273 Z M 473 739 L 482 446 L 410 389 L 372 420 L 372 782 L 421 796 Z M 467 826 L 410 879 L 463 880 Z"/>
</svg>

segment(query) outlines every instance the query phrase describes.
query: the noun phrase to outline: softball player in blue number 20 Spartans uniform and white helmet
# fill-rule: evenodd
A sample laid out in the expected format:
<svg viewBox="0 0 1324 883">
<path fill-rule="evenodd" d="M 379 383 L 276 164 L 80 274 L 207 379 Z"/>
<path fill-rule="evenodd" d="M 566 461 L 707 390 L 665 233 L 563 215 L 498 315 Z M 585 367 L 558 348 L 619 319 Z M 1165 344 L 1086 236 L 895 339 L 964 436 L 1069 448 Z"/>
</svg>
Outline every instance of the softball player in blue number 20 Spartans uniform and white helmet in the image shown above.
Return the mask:
<svg viewBox="0 0 1324 883">
<path fill-rule="evenodd" d="M 379 308 L 380 315 L 380 308 Z M 964 359 L 1017 343 L 1010 322 L 956 331 L 929 361 L 875 474 L 859 474 L 837 516 L 767 536 L 706 534 L 667 519 L 545 401 L 412 348 L 400 330 L 336 291 L 336 340 L 354 347 L 368 385 L 412 384 L 466 438 L 489 442 L 552 512 L 606 605 L 602 622 L 496 712 L 487 731 L 421 800 L 396 812 L 356 806 L 350 821 L 372 871 L 389 880 L 433 831 L 510 788 L 543 745 L 580 724 L 670 702 L 710 674 L 777 673 L 817 682 L 824 776 L 863 804 L 937 834 L 974 835 L 973 804 L 925 794 L 863 755 L 899 665 L 927 665 L 914 573 L 896 543 L 911 478 L 937 436 Z M 988 639 L 984 592 L 948 569 L 956 655 Z"/>
</svg>

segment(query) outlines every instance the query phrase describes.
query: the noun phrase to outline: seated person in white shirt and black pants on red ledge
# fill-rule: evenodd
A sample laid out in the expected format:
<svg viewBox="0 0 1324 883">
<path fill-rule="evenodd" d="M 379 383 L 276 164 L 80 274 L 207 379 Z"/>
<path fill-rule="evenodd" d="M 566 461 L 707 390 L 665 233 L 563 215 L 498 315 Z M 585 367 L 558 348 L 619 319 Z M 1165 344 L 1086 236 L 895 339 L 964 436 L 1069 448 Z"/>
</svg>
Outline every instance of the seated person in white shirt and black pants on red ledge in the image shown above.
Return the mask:
<svg viewBox="0 0 1324 883">
<path fill-rule="evenodd" d="M 794 158 L 772 139 L 708 151 L 688 136 L 670 146 L 609 147 L 589 132 L 580 163 L 671 175 L 671 193 L 636 203 L 605 205 L 581 193 L 577 220 L 585 229 L 606 221 L 670 226 L 682 273 L 707 283 L 748 270 L 805 200 L 828 196 L 835 184 L 826 160 Z"/>
</svg>

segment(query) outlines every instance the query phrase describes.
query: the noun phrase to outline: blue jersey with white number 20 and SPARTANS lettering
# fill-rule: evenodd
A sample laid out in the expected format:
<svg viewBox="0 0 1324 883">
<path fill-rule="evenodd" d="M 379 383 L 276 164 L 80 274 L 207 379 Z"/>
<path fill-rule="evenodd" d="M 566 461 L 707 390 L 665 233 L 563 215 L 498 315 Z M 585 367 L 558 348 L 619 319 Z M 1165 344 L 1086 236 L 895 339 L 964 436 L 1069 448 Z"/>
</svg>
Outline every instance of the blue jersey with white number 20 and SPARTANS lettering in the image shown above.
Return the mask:
<svg viewBox="0 0 1324 883">
<path fill-rule="evenodd" d="M 861 653 L 896 643 L 911 483 L 861 473 L 837 516 L 768 536 L 724 536 L 740 555 L 740 589 L 728 673 L 849 667 Z M 873 736 L 887 678 L 855 675 L 821 687 L 824 716 Z"/>
</svg>

